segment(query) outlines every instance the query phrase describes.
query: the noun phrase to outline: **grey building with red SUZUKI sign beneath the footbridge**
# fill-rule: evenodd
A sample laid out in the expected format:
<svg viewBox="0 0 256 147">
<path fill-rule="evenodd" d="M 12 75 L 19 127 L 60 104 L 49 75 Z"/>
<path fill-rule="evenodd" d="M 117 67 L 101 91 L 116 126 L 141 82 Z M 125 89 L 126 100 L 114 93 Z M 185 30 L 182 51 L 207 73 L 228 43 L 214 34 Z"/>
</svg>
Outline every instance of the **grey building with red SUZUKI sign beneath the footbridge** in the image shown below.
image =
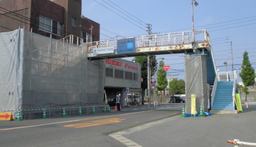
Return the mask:
<svg viewBox="0 0 256 147">
<path fill-rule="evenodd" d="M 105 96 L 110 106 L 122 99 L 122 106 L 141 104 L 140 64 L 125 59 L 106 59 Z"/>
</svg>

